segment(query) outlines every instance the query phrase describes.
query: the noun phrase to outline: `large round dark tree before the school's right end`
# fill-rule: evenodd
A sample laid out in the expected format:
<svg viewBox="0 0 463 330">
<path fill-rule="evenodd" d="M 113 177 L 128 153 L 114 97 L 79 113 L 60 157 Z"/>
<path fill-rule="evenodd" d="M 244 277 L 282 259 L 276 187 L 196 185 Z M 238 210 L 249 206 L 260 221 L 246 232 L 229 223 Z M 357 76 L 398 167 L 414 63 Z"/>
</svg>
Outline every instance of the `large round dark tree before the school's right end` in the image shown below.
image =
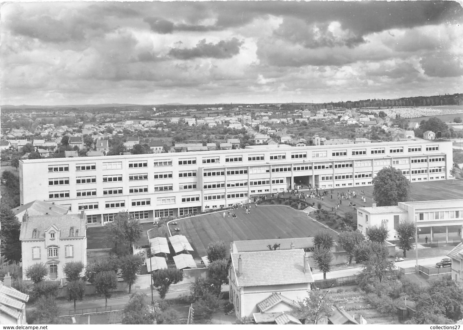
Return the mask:
<svg viewBox="0 0 463 330">
<path fill-rule="evenodd" d="M 373 197 L 378 206 L 406 202 L 410 195 L 410 182 L 397 168 L 383 168 L 373 179 Z"/>
</svg>

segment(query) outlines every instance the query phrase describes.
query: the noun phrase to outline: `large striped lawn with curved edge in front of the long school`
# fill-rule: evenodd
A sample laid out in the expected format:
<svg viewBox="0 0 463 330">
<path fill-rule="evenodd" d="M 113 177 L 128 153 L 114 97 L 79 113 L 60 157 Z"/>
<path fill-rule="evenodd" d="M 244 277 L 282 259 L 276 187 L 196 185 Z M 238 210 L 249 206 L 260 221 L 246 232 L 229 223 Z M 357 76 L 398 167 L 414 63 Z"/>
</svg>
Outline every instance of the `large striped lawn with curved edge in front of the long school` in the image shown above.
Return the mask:
<svg viewBox="0 0 463 330">
<path fill-rule="evenodd" d="M 237 215 L 234 220 L 232 216 L 223 218 L 223 212 L 177 220 L 179 234 L 188 238 L 195 259 L 206 255 L 207 244 L 214 241 L 225 241 L 228 246 L 238 240 L 310 237 L 324 228 L 289 206 L 253 206 L 250 214 L 242 208 L 233 212 Z"/>
</svg>

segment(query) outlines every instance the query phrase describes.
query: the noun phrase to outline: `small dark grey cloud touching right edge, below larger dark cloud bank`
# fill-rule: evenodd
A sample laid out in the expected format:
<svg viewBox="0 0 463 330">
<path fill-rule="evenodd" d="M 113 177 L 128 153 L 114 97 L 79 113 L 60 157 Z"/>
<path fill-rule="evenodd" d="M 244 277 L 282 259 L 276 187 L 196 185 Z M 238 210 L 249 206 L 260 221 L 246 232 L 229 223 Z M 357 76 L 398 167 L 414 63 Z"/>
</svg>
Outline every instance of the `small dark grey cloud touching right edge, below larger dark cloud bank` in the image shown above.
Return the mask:
<svg viewBox="0 0 463 330">
<path fill-rule="evenodd" d="M 419 61 L 429 77 L 459 77 L 463 75 L 463 56 L 437 54 L 424 56 Z"/>
</svg>

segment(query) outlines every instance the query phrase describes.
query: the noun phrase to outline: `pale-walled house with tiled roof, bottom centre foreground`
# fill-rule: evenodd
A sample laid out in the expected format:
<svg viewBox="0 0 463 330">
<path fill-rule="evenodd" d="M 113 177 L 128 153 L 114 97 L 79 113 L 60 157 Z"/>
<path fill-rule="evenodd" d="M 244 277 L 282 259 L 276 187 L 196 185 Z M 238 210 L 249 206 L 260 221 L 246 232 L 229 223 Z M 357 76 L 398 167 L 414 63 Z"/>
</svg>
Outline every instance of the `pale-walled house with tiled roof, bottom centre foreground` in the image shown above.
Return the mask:
<svg viewBox="0 0 463 330">
<path fill-rule="evenodd" d="M 230 302 L 237 318 L 290 312 L 313 282 L 303 249 L 238 252 L 230 259 Z"/>
</svg>

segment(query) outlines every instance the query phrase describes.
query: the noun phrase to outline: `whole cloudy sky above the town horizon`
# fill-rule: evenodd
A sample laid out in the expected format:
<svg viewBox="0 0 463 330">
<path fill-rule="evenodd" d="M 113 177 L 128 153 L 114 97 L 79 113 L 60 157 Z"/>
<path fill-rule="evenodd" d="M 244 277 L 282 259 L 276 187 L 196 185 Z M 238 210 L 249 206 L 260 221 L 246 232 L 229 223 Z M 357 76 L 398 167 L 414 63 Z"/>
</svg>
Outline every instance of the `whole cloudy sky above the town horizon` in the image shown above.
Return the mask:
<svg viewBox="0 0 463 330">
<path fill-rule="evenodd" d="M 31 2 L 0 15 L 2 105 L 462 93 L 454 1 Z"/>
</svg>

